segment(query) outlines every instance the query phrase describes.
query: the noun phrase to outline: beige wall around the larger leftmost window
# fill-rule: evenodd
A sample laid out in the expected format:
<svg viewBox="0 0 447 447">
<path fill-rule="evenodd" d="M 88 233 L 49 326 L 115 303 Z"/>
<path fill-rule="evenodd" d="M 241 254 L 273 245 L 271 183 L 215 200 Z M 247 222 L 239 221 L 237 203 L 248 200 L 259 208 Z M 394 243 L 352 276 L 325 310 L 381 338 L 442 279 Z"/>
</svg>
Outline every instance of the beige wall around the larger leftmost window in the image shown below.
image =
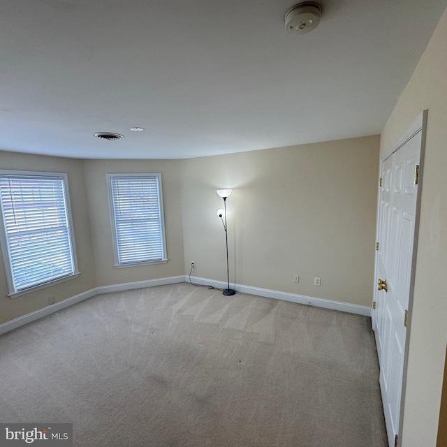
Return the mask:
<svg viewBox="0 0 447 447">
<path fill-rule="evenodd" d="M 47 306 L 48 298 L 51 296 L 54 296 L 56 301 L 60 301 L 94 288 L 96 280 L 82 160 L 0 152 L 0 169 L 68 174 L 68 190 L 70 192 L 73 230 L 80 271 L 78 278 L 10 299 L 7 296 L 8 286 L 6 284 L 3 256 L 0 256 L 0 323 L 4 323 Z"/>
</svg>

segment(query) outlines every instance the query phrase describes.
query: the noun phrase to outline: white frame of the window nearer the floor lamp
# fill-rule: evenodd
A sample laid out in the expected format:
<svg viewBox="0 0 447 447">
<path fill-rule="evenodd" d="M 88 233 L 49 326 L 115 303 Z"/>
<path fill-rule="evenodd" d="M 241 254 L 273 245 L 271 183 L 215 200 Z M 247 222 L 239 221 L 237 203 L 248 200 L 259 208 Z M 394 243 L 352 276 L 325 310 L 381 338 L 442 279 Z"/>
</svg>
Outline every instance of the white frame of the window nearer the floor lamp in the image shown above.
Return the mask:
<svg viewBox="0 0 447 447">
<path fill-rule="evenodd" d="M 117 237 L 117 226 L 115 220 L 115 207 L 113 202 L 113 190 L 112 190 L 112 180 L 116 178 L 142 178 L 149 179 L 155 177 L 157 179 L 158 186 L 158 199 L 159 199 L 159 215 L 160 215 L 160 226 L 161 226 L 161 259 L 147 260 L 147 261 L 137 261 L 129 263 L 119 262 L 119 251 L 118 251 L 118 237 Z M 128 267 L 139 267 L 142 265 L 154 265 L 154 264 L 164 264 L 168 262 L 168 255 L 166 252 L 166 229 L 165 229 L 165 213 L 163 207 L 163 186 L 161 182 L 161 173 L 110 173 L 107 174 L 107 188 L 108 188 L 108 198 L 109 198 L 109 212 L 110 212 L 110 226 L 112 230 L 112 241 L 113 241 L 113 256 L 115 258 L 114 267 L 115 268 L 128 268 Z"/>
</svg>

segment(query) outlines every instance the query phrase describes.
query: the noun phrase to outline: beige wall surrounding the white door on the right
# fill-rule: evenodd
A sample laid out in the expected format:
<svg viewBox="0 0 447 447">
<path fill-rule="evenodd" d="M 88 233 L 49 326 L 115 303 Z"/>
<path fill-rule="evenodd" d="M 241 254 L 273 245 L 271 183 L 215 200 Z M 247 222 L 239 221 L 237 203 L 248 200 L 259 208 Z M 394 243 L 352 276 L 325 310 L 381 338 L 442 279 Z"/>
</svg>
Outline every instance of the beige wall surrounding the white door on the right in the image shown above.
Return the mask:
<svg viewBox="0 0 447 447">
<path fill-rule="evenodd" d="M 434 447 L 447 340 L 447 12 L 381 135 L 381 154 L 428 109 L 402 447 Z"/>
</svg>

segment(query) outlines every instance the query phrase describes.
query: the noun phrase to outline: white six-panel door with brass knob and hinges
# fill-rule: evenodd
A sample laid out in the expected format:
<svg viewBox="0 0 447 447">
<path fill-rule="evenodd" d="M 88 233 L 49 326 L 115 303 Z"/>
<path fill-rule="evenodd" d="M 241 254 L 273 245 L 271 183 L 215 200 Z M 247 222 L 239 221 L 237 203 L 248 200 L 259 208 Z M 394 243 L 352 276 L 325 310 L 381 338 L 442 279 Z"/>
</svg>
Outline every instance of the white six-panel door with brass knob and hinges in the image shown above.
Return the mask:
<svg viewBox="0 0 447 447">
<path fill-rule="evenodd" d="M 381 161 L 377 230 L 379 245 L 376 251 L 375 309 L 372 320 L 390 447 L 394 447 L 398 439 L 401 418 L 406 332 L 416 259 L 420 156 L 425 116 L 420 115 Z"/>
</svg>

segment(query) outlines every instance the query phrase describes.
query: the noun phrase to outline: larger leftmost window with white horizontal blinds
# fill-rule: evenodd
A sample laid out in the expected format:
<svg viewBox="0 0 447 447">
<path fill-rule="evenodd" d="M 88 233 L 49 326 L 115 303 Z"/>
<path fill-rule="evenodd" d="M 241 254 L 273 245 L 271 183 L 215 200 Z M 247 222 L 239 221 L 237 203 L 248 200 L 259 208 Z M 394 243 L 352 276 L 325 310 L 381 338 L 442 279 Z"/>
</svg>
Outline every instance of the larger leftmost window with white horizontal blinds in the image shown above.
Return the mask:
<svg viewBox="0 0 447 447">
<path fill-rule="evenodd" d="M 0 171 L 10 296 L 78 274 L 66 174 Z"/>
</svg>

